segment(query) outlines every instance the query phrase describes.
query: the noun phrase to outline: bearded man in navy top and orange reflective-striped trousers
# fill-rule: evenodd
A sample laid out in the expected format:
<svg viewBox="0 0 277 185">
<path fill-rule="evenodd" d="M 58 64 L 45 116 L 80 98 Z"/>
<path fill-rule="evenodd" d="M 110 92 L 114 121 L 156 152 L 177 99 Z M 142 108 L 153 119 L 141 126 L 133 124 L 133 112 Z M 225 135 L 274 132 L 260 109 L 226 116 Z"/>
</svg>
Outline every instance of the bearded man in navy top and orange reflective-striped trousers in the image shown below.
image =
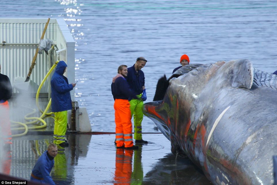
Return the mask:
<svg viewBox="0 0 277 185">
<path fill-rule="evenodd" d="M 138 146 L 133 144 L 132 137 L 132 122 L 130 98 L 135 98 L 136 94 L 131 90 L 126 80 L 128 74 L 127 66 L 121 65 L 117 69 L 117 75 L 113 78 L 111 84 L 111 92 L 115 100 L 115 143 L 117 148 L 138 149 Z"/>
</svg>

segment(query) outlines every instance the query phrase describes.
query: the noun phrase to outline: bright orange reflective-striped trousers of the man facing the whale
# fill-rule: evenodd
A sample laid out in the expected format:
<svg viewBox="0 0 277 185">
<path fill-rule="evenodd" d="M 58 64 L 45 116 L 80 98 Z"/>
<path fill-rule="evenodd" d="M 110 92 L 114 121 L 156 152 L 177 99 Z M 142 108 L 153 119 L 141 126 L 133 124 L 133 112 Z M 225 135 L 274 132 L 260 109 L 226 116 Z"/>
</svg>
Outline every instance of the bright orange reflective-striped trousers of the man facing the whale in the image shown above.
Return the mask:
<svg viewBox="0 0 277 185">
<path fill-rule="evenodd" d="M 132 147 L 132 122 L 128 100 L 115 99 L 115 142 L 117 147 Z"/>
</svg>

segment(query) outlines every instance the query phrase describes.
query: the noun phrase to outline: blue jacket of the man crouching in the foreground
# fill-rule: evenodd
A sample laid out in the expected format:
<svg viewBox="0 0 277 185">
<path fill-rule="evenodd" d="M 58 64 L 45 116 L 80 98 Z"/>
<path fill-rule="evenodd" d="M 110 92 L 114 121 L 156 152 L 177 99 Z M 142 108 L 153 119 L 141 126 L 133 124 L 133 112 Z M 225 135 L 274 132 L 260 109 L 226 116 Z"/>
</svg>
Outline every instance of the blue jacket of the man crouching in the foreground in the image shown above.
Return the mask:
<svg viewBox="0 0 277 185">
<path fill-rule="evenodd" d="M 47 155 L 47 151 L 43 152 L 43 154 L 38 158 L 34 169 L 32 170 L 33 175 L 43 178 L 43 180 L 38 180 L 31 176 L 31 181 L 40 182 L 42 184 L 56 185 L 50 176 L 53 166 L 54 158 L 50 159 Z"/>
</svg>

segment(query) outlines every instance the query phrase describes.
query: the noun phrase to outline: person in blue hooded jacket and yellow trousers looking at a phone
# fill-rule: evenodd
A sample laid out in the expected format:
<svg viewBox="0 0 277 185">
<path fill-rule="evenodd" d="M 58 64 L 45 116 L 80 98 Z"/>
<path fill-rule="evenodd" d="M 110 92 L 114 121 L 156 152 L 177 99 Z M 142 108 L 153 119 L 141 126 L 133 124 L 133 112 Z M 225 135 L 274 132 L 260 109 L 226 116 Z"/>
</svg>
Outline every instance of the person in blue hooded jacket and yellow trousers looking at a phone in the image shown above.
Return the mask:
<svg viewBox="0 0 277 185">
<path fill-rule="evenodd" d="M 67 64 L 59 61 L 51 79 L 51 108 L 55 115 L 54 143 L 61 147 L 68 147 L 65 139 L 67 129 L 67 110 L 72 109 L 70 91 L 76 83 L 68 83 L 63 74 Z"/>
</svg>

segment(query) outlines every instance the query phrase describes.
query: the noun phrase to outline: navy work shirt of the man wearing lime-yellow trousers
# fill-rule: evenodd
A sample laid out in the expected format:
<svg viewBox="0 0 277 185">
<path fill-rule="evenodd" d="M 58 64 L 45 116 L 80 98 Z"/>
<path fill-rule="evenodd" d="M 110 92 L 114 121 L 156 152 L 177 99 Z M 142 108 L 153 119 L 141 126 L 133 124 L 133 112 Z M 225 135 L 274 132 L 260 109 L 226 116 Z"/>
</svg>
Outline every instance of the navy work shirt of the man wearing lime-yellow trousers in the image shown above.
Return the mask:
<svg viewBox="0 0 277 185">
<path fill-rule="evenodd" d="M 142 93 L 142 86 L 145 86 L 145 78 L 142 70 L 136 72 L 135 65 L 129 67 L 126 79 L 130 87 L 135 91 L 136 95 Z"/>
</svg>

